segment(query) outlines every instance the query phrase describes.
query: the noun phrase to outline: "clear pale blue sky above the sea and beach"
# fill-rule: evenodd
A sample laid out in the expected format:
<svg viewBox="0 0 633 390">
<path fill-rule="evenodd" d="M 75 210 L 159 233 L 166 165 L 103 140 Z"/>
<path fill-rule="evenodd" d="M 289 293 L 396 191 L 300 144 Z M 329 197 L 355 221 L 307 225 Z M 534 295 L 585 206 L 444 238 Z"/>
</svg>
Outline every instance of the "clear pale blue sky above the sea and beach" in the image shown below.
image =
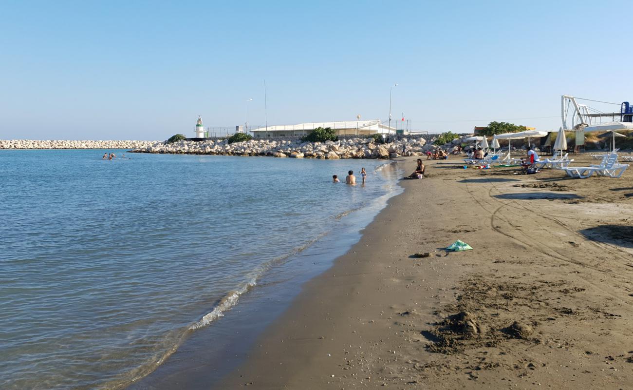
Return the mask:
<svg viewBox="0 0 633 390">
<path fill-rule="evenodd" d="M 0 139 L 263 125 L 264 79 L 269 125 L 386 120 L 398 82 L 415 129 L 558 129 L 561 94 L 633 101 L 625 4 L 0 0 Z"/>
</svg>

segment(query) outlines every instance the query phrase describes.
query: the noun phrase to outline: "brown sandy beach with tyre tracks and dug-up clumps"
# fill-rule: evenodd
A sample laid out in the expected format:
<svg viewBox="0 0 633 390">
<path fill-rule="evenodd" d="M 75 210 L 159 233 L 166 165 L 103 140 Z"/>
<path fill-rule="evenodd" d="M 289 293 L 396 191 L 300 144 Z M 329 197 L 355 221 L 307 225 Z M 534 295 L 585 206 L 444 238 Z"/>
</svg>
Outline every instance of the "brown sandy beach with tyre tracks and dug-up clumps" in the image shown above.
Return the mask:
<svg viewBox="0 0 633 390">
<path fill-rule="evenodd" d="M 633 169 L 568 179 L 460 162 L 402 181 L 214 388 L 633 388 Z M 473 250 L 443 249 L 458 239 Z"/>
</svg>

